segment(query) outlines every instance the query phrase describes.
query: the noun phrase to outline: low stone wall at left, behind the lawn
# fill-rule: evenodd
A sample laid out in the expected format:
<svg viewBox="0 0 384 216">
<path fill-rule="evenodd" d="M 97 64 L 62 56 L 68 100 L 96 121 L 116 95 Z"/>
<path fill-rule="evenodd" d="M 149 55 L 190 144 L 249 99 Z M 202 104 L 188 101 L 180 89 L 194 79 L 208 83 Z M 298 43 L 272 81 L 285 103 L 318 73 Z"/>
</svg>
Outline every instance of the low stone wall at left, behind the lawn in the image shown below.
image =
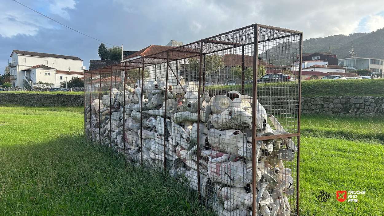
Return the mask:
<svg viewBox="0 0 384 216">
<path fill-rule="evenodd" d="M 0 93 L 0 105 L 20 106 L 84 106 L 84 95 Z"/>
</svg>

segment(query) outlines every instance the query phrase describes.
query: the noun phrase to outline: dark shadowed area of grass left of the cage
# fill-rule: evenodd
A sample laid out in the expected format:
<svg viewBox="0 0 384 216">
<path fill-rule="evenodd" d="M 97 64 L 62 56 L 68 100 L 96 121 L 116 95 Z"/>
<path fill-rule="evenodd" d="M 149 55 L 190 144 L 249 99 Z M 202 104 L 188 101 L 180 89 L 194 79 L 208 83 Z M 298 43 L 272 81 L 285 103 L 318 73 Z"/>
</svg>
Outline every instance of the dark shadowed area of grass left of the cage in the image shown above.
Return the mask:
<svg viewBox="0 0 384 216">
<path fill-rule="evenodd" d="M 163 171 L 125 164 L 83 135 L 0 149 L 0 214 L 214 215 Z"/>
</svg>

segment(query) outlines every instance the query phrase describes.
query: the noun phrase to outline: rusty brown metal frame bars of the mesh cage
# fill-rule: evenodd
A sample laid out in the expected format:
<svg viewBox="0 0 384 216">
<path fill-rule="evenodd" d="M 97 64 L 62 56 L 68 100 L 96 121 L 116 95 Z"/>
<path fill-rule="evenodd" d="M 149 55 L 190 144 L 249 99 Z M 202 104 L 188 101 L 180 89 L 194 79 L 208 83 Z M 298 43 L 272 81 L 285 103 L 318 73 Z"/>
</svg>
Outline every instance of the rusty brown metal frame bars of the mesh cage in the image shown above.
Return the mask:
<svg viewBox="0 0 384 216">
<path fill-rule="evenodd" d="M 240 31 L 240 30 L 245 30 L 245 29 L 250 29 L 250 28 L 253 28 L 253 37 L 250 37 L 252 38 L 253 41 L 247 41 L 244 39 L 244 41 L 246 41 L 246 43 L 237 43 L 235 42 L 234 40 L 231 40 L 233 38 L 227 38 L 226 40 L 227 41 L 220 41 L 218 40 L 217 38 L 219 38 L 220 36 L 225 36 L 227 34 L 230 34 L 230 33 L 233 33 L 233 32 L 237 32 L 237 31 Z M 276 37 L 276 35 L 278 36 L 279 34 L 275 34 L 270 37 L 270 38 L 262 38 L 263 35 L 262 33 L 260 33 L 260 29 L 269 29 L 269 30 L 276 30 L 276 31 L 280 31 L 280 32 L 284 32 L 284 33 L 281 33 L 280 35 L 282 36 L 279 36 L 279 37 Z M 263 31 L 263 30 L 261 30 Z M 260 35 L 261 36 L 260 36 Z M 159 52 L 159 53 L 154 53 L 154 54 L 151 54 L 151 55 L 147 55 L 147 56 L 141 56 L 139 58 L 136 58 L 136 59 L 133 59 L 133 60 L 128 60 L 128 61 L 124 61 L 124 62 L 121 62 L 121 63 L 117 63 L 115 65 L 112 65 L 111 68 L 108 67 L 104 67 L 104 68 L 100 68 L 100 76 L 102 73 L 111 73 L 111 85 L 109 86 L 110 87 L 110 100 L 111 100 L 111 94 L 112 94 L 112 77 L 113 77 L 113 67 L 116 67 L 116 69 L 118 70 L 118 68 L 122 68 L 122 66 L 124 66 L 124 83 L 123 83 L 123 88 L 124 88 L 124 103 L 123 103 L 123 113 L 124 113 L 124 119 L 126 118 L 125 116 L 125 93 L 126 93 L 126 89 L 125 89 L 125 85 L 126 85 L 126 81 L 127 81 L 127 70 L 130 70 L 130 69 L 135 69 L 135 68 L 138 68 L 139 69 L 139 75 L 141 75 L 141 83 L 139 84 L 140 87 L 141 87 L 141 98 L 140 98 L 140 103 L 141 103 L 141 108 L 140 108 L 140 111 L 141 111 L 141 114 L 140 114 L 140 120 L 141 120 L 141 124 L 142 124 L 142 119 L 143 119 L 143 114 L 142 114 L 142 111 L 143 111 L 143 104 L 142 104 L 142 98 L 143 98 L 143 88 L 144 88 L 144 71 L 145 71 L 145 67 L 147 66 L 151 66 L 151 65 L 154 65 L 155 66 L 155 81 L 157 80 L 157 68 L 156 68 L 156 65 L 157 64 L 163 64 L 163 63 L 166 63 L 166 92 L 165 92 L 165 109 L 164 109 L 164 173 L 166 173 L 166 106 L 167 106 L 167 91 L 168 91 L 168 79 L 169 79 L 169 69 L 172 71 L 173 75 L 175 76 L 176 78 L 176 82 L 177 84 L 176 85 L 180 85 L 182 90 L 185 92 L 184 88 L 182 87 L 181 83 L 180 83 L 180 80 L 179 80 L 179 74 L 178 74 L 178 60 L 183 60 L 183 59 L 187 59 L 187 58 L 197 58 L 199 56 L 200 60 L 199 60 L 199 87 L 198 87 L 198 100 L 197 100 L 197 106 L 199 107 L 199 110 L 197 111 L 197 190 L 198 190 L 198 193 L 199 193 L 199 199 L 200 201 L 202 200 L 201 198 L 201 188 L 200 188 L 200 106 L 201 106 L 201 102 L 200 101 L 200 97 L 201 97 L 201 93 L 204 93 L 205 91 L 205 71 L 206 71 L 206 63 L 205 63 L 205 60 L 206 60 L 206 55 L 210 54 L 210 53 L 218 53 L 218 52 L 222 52 L 222 51 L 225 51 L 225 50 L 229 50 L 229 49 L 234 49 L 234 48 L 239 48 L 241 47 L 241 94 L 244 94 L 245 93 L 245 59 L 244 59 L 244 55 L 245 55 L 245 52 L 244 52 L 244 47 L 245 46 L 248 46 L 248 45 L 253 45 L 253 84 L 252 84 L 252 115 L 255 116 L 255 113 L 256 113 L 256 101 L 257 101 L 257 97 L 258 97 L 258 83 L 257 83 L 257 75 L 258 75 L 258 66 L 260 64 L 262 64 L 262 61 L 260 63 L 260 60 L 258 59 L 258 49 L 260 48 L 259 45 L 260 43 L 263 43 L 263 42 L 268 42 L 268 41 L 273 41 L 273 40 L 279 40 L 279 39 L 284 39 L 284 38 L 288 38 L 288 37 L 293 37 L 293 36 L 299 36 L 300 37 L 300 64 L 299 64 L 299 78 L 298 78 L 298 81 L 299 81 L 299 86 L 298 86 L 298 94 L 299 94 L 299 98 L 298 98 L 298 103 L 299 103 L 299 107 L 298 107 L 298 118 L 297 118 L 297 133 L 289 133 L 289 134 L 282 134 L 282 135 L 268 135 L 268 136 L 261 136 L 261 137 L 258 137 L 256 135 L 256 131 L 255 131 L 255 128 L 256 128 L 256 122 L 255 122 L 255 118 L 252 119 L 252 175 L 253 175 L 253 182 L 252 182 L 252 190 L 254 191 L 253 192 L 253 196 L 252 196 L 252 200 L 253 200 L 253 209 L 252 209 L 252 213 L 253 215 L 256 215 L 256 210 L 257 210 L 257 206 L 256 205 L 256 182 L 255 182 L 255 176 L 256 176 L 256 171 L 257 171 L 257 165 L 256 165 L 256 162 L 257 162 L 257 158 L 256 157 L 256 143 L 257 141 L 259 140 L 271 140 L 271 139 L 277 139 L 277 138 L 293 138 L 293 137 L 297 137 L 297 147 L 298 147 L 298 151 L 297 151 L 297 175 L 296 175 L 296 184 L 297 184 L 297 188 L 296 188 L 296 215 L 299 215 L 299 180 L 300 180 L 300 175 L 299 175 L 299 171 L 300 171 L 300 114 L 301 114 L 301 107 L 300 107 L 300 103 L 301 103 L 301 54 L 302 54 L 302 32 L 298 32 L 298 31 L 294 31 L 294 30 L 288 30 L 288 29 L 284 29 L 284 28 L 277 28 L 277 27 L 270 27 L 270 26 L 266 26 L 266 25 L 260 25 L 260 24 L 252 24 L 252 25 L 249 25 L 249 26 L 246 26 L 246 27 L 242 27 L 242 28 L 238 28 L 238 29 L 235 29 L 235 30 L 232 30 L 232 31 L 229 31 L 229 32 L 225 32 L 225 33 L 222 33 L 222 34 L 219 34 L 219 35 L 215 35 L 213 37 L 209 37 L 209 38 L 205 38 L 205 39 L 202 39 L 202 40 L 199 40 L 197 42 L 193 42 L 193 43 L 189 43 L 187 45 L 183 45 L 183 46 L 180 46 L 180 47 L 175 47 L 175 48 L 171 48 L 171 49 L 168 49 L 168 50 L 165 50 L 165 51 L 162 51 L 162 52 Z M 234 36 L 235 37 L 235 36 Z M 266 37 L 266 36 L 264 36 Z M 211 45 L 217 45 L 215 46 L 214 48 L 212 48 Z M 198 48 L 199 46 L 199 48 Z M 261 45 L 260 45 L 261 46 Z M 207 50 L 204 50 L 204 47 L 206 47 Z M 211 49 L 211 50 L 209 50 Z M 164 57 L 164 55 L 166 54 L 166 58 Z M 172 69 L 172 67 L 170 66 L 169 64 L 169 61 L 176 61 L 176 73 L 174 72 L 174 70 Z M 124 64 L 124 65 L 123 65 Z M 141 74 L 140 74 L 140 69 L 141 69 Z M 109 72 L 110 71 L 110 72 Z M 90 90 L 90 98 L 91 100 L 89 101 L 89 104 L 91 105 L 92 103 L 92 77 L 93 77 L 93 71 L 88 71 L 88 72 L 85 72 L 84 73 L 84 78 L 85 78 L 85 75 L 90 73 L 91 74 L 91 90 Z M 131 79 L 131 77 L 129 77 L 129 79 L 131 80 L 131 82 L 133 83 L 133 85 L 135 87 L 136 86 L 136 83 L 134 83 Z M 249 83 L 248 83 L 249 84 Z M 115 78 L 115 85 L 116 85 L 116 78 Z M 85 94 L 85 87 L 84 87 L 84 94 Z M 99 90 L 99 98 L 101 97 L 101 77 L 100 77 L 100 90 Z M 111 101 L 109 101 L 111 103 Z M 84 113 L 85 113 L 85 108 L 86 108 L 86 105 L 85 105 L 85 99 L 84 99 Z M 91 108 L 92 106 L 90 106 L 90 111 L 91 111 Z M 99 108 L 100 110 L 100 108 Z M 111 111 L 111 108 L 110 108 L 110 111 Z M 110 136 L 110 139 L 111 139 L 111 112 L 110 112 L 110 118 L 109 118 L 109 124 L 110 124 L 110 130 L 109 130 L 109 136 Z M 99 115 L 99 118 L 100 118 L 100 115 Z M 84 118 L 84 121 L 86 121 L 86 116 Z M 90 118 L 90 121 L 91 121 L 91 118 Z M 86 131 L 86 125 L 85 125 L 85 122 L 84 122 L 84 131 Z M 90 126 L 90 131 L 91 131 L 91 137 L 92 137 L 92 126 Z M 124 142 L 125 142 L 125 122 L 123 123 L 123 131 L 124 131 Z M 100 133 L 99 133 L 99 136 L 100 136 Z M 100 138 L 99 138 L 100 139 Z M 140 146 L 141 146 L 141 149 L 143 148 L 143 141 L 142 141 L 142 129 L 141 129 L 141 133 L 140 133 Z M 110 140 L 112 141 L 112 140 Z M 124 151 L 125 151 L 125 145 L 123 144 L 124 146 Z M 143 158 L 142 158 L 142 151 L 141 151 L 141 165 L 143 165 Z"/>
</svg>

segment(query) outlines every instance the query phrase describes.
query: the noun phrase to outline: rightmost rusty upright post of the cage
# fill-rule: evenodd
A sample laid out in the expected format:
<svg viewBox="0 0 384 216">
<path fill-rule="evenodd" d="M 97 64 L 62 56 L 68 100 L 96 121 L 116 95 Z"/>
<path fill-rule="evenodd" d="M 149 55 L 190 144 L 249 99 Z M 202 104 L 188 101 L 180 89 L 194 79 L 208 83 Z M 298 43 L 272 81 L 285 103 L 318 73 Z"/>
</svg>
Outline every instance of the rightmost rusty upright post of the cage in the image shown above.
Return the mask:
<svg viewBox="0 0 384 216">
<path fill-rule="evenodd" d="M 300 115 L 301 115 L 301 53 L 303 53 L 303 33 L 300 34 L 300 54 L 299 54 L 299 104 L 298 104 L 298 122 L 297 133 L 300 134 Z M 296 189 L 296 214 L 299 215 L 299 180 L 300 180 L 300 135 L 297 137 L 297 189 Z"/>
</svg>

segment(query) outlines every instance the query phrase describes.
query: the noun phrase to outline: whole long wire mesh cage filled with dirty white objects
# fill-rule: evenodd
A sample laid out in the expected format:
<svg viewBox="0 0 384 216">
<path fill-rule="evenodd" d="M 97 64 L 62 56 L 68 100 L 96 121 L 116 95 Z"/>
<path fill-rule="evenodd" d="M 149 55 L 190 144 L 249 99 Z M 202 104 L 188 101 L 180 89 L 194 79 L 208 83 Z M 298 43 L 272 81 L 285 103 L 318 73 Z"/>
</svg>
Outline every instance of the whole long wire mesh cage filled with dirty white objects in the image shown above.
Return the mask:
<svg viewBox="0 0 384 216">
<path fill-rule="evenodd" d="M 89 71 L 86 133 L 218 215 L 297 215 L 301 38 L 255 24 Z"/>
</svg>

